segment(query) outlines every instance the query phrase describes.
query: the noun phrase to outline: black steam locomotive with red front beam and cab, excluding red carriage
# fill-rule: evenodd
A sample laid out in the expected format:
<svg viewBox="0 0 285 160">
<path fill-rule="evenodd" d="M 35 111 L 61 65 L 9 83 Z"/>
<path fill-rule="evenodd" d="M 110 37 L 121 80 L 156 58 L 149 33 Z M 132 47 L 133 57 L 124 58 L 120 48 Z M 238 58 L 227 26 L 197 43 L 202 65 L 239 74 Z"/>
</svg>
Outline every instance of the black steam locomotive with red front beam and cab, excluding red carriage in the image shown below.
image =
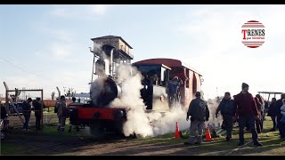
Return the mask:
<svg viewBox="0 0 285 160">
<path fill-rule="evenodd" d="M 104 132 L 123 133 L 126 123 L 126 107 L 110 108 L 110 102 L 119 97 L 121 91 L 118 84 L 118 66 L 120 52 L 114 47 L 102 45 L 102 53 L 96 53 L 95 75 L 98 77 L 91 83 L 88 104 L 70 105 L 70 122 L 73 125 L 88 125 L 95 138 L 102 138 Z M 95 55 L 95 54 L 94 54 Z M 112 59 L 112 60 L 110 60 Z M 159 106 L 159 110 L 167 110 L 166 85 L 169 80 L 169 70 L 163 64 L 134 64 L 134 68 L 142 73 L 141 96 L 145 104 L 145 111 L 151 112 Z M 106 74 L 106 71 L 109 74 Z M 132 68 L 129 70 L 132 73 Z"/>
</svg>

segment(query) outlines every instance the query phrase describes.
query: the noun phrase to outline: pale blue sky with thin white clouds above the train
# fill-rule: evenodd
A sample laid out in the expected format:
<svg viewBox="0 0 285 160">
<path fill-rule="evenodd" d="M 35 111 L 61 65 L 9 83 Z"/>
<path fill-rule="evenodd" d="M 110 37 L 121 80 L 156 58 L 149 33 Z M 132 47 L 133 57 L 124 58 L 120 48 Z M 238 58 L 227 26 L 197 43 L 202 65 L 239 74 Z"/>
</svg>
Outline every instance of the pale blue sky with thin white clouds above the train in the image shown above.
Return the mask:
<svg viewBox="0 0 285 160">
<path fill-rule="evenodd" d="M 197 68 L 208 98 L 216 88 L 240 92 L 242 82 L 254 94 L 285 92 L 284 16 L 284 5 L 0 5 L 0 79 L 11 88 L 44 88 L 46 98 L 55 86 L 88 92 L 90 38 L 114 35 L 132 45 L 133 62 L 173 58 Z M 240 42 L 248 20 L 265 25 L 257 49 Z"/>
</svg>

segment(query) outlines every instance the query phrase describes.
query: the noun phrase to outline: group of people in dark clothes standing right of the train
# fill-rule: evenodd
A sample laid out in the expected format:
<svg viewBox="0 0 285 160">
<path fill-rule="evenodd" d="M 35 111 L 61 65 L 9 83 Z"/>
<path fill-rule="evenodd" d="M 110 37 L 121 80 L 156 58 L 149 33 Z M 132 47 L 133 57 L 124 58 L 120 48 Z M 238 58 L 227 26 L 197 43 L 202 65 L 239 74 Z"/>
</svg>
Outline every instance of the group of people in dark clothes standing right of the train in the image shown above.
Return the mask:
<svg viewBox="0 0 285 160">
<path fill-rule="evenodd" d="M 225 140 L 232 139 L 232 127 L 235 121 L 239 123 L 239 146 L 245 144 L 244 130 L 251 132 L 253 144 L 262 146 L 258 141 L 258 133 L 263 131 L 266 109 L 267 116 L 271 116 L 273 120 L 273 129 L 270 132 L 276 131 L 278 128 L 280 140 L 285 140 L 285 93 L 281 94 L 281 99 L 273 98 L 270 105 L 262 96 L 256 94 L 255 97 L 248 92 L 249 85 L 242 83 L 241 92 L 233 95 L 231 98 L 230 92 L 224 93 L 224 98 L 216 108 L 216 117 L 221 114 L 223 116 L 223 128 L 226 131 Z M 190 137 L 184 142 L 185 145 L 201 144 L 201 136 L 205 128 L 205 122 L 209 118 L 209 109 L 207 101 L 200 98 L 200 92 L 196 92 L 196 99 L 191 100 L 187 112 L 186 120 L 191 116 Z M 198 130 L 198 138 L 195 142 L 195 131 Z"/>
</svg>

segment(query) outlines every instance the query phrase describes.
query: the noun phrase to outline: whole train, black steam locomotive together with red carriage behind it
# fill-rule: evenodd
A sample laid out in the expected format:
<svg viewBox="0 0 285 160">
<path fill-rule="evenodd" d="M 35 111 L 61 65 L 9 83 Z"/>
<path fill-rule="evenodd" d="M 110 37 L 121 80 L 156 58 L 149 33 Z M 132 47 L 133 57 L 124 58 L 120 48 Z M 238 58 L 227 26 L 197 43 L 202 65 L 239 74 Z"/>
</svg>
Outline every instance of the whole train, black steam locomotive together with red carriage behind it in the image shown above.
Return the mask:
<svg viewBox="0 0 285 160">
<path fill-rule="evenodd" d="M 97 39 L 93 40 L 95 42 Z M 132 56 L 111 44 L 103 44 L 99 49 L 94 47 L 91 52 L 94 53 L 94 60 L 98 59 L 94 63 L 95 72 L 93 71 L 93 76 L 96 75 L 97 78 L 94 81 L 92 79 L 90 83 L 91 100 L 87 104 L 71 103 L 69 120 L 72 125 L 90 126 L 94 138 L 102 138 L 105 132 L 123 134 L 123 126 L 127 121 L 126 113 L 130 108 L 110 108 L 110 102 L 120 97 L 123 92 L 118 83 L 118 66 L 121 62 L 133 66 L 143 76 L 144 87 L 140 92 L 145 112 L 169 111 L 167 83 L 172 77 L 178 76 L 183 81 L 180 89 L 180 103 L 183 108 L 189 105 L 202 82 L 199 72 L 180 60 L 149 59 L 130 64 Z M 132 68 L 128 72 L 132 74 Z"/>
</svg>

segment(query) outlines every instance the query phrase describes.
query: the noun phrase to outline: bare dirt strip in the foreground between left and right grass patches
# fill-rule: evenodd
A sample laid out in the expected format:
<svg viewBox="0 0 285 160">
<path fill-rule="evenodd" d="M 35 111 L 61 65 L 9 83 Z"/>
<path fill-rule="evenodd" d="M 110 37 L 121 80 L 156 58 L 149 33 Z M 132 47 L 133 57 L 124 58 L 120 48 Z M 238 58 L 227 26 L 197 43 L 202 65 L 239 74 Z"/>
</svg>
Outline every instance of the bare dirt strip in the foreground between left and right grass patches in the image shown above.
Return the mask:
<svg viewBox="0 0 285 160">
<path fill-rule="evenodd" d="M 82 137 L 61 137 L 58 136 L 13 136 L 5 140 L 5 143 L 16 145 L 25 144 L 19 152 L 12 155 L 167 155 L 182 148 L 183 144 L 142 144 L 131 138 L 114 138 L 111 135 L 107 140 L 94 140 Z M 179 146 L 177 148 L 177 146 Z M 1 154 L 4 155 L 4 154 Z M 10 154 L 8 154 L 10 155 Z"/>
</svg>

